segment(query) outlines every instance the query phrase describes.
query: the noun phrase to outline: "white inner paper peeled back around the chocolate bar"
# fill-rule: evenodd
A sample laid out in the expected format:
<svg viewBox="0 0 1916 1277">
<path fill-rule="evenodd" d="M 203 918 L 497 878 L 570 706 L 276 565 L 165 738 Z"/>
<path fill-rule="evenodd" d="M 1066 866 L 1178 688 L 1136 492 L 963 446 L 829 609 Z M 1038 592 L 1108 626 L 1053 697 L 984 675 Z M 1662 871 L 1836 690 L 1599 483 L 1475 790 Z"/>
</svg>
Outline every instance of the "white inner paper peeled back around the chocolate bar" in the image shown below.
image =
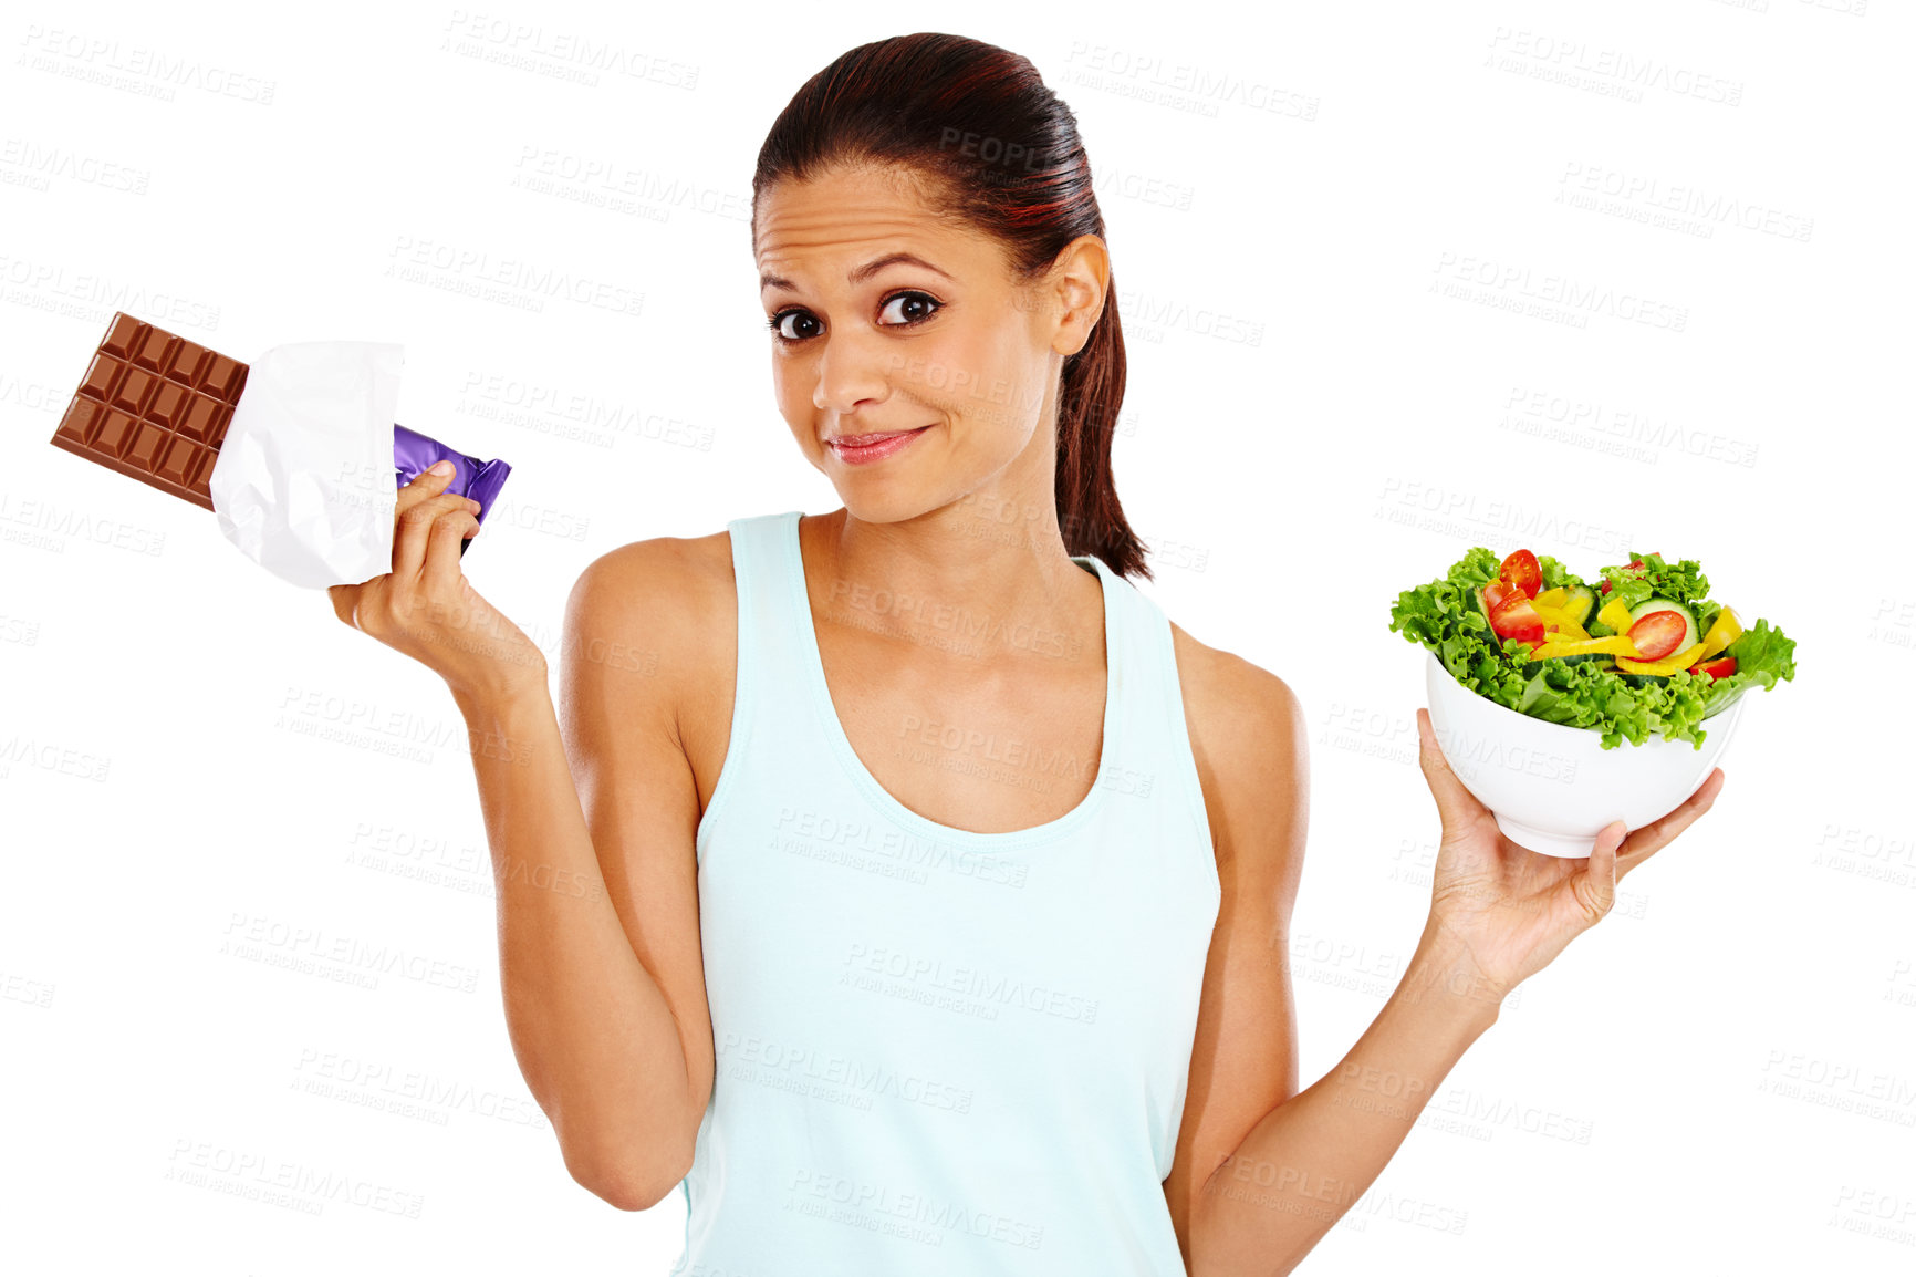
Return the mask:
<svg viewBox="0 0 1916 1277">
<path fill-rule="evenodd" d="M 276 345 L 249 364 L 207 487 L 220 535 L 308 589 L 393 569 L 393 414 L 404 347 Z"/>
</svg>

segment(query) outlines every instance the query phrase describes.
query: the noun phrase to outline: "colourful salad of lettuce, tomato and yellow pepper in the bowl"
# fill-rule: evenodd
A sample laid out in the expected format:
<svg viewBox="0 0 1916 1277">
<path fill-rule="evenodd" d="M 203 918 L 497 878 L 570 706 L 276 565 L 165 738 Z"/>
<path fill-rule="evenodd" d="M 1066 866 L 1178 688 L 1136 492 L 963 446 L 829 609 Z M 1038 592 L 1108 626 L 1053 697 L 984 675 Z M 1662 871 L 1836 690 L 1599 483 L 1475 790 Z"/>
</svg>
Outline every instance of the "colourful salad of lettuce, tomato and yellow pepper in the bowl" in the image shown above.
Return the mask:
<svg viewBox="0 0 1916 1277">
<path fill-rule="evenodd" d="M 1795 642 L 1709 600 L 1694 558 L 1632 554 L 1590 585 L 1548 554 L 1471 546 L 1391 604 L 1391 629 L 1429 648 L 1479 696 L 1602 748 L 1654 734 L 1703 748 L 1703 719 L 1751 686 L 1795 677 Z"/>
</svg>

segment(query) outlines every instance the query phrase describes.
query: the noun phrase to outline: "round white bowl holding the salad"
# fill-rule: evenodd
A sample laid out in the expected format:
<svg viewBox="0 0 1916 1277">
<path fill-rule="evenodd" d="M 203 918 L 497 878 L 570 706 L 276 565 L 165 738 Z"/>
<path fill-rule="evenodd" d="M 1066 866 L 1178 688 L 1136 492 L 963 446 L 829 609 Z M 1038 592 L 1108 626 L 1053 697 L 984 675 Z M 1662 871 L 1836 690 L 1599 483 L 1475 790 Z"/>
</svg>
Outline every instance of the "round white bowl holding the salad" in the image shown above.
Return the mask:
<svg viewBox="0 0 1916 1277">
<path fill-rule="evenodd" d="M 1585 857 L 1611 821 L 1632 830 L 1675 811 L 1696 794 L 1736 734 L 1744 692 L 1703 719 L 1703 748 L 1652 734 L 1615 750 L 1588 727 L 1563 727 L 1498 706 L 1450 677 L 1429 648 L 1431 729 L 1464 788 L 1496 817 L 1517 846 Z"/>
</svg>

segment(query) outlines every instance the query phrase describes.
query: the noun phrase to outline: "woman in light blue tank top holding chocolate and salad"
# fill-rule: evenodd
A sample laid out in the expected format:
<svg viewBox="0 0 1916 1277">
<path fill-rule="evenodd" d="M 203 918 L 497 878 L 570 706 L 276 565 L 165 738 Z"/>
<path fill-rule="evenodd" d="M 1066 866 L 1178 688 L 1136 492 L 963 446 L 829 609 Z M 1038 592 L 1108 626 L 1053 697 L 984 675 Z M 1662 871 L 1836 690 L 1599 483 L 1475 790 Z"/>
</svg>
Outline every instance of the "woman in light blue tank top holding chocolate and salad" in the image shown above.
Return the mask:
<svg viewBox="0 0 1916 1277">
<path fill-rule="evenodd" d="M 592 562 L 546 663 L 422 476 L 339 617 L 473 731 L 513 1051 L 571 1173 L 674 1271 L 1286 1273 L 1502 997 L 1709 809 L 1588 861 L 1504 840 L 1420 709 L 1429 922 L 1297 1087 L 1307 759 L 1286 683 L 1129 577 L 1125 347 L 1071 111 L 950 35 L 851 50 L 772 125 L 778 408 L 843 508 Z"/>
</svg>

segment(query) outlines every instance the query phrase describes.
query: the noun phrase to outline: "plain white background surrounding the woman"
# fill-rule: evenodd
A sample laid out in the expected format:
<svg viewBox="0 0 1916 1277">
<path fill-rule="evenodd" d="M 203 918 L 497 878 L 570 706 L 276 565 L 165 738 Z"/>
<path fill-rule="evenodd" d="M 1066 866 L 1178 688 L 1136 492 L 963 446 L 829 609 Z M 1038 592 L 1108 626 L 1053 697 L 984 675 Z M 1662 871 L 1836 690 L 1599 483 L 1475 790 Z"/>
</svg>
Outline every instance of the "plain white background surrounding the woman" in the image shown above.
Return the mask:
<svg viewBox="0 0 1916 1277">
<path fill-rule="evenodd" d="M 519 1080 L 445 686 L 48 439 L 115 309 L 240 359 L 404 341 L 399 420 L 513 464 L 466 566 L 556 658 L 598 554 L 837 506 L 768 393 L 751 167 L 807 77 L 918 29 L 1029 56 L 1077 111 L 1142 589 L 1309 711 L 1307 1080 L 1427 905 L 1401 589 L 1470 545 L 1654 548 L 1797 640 L 1717 809 L 1301 1271 L 1916 1267 L 1906 10 L 1230 8 L 10 8 L 6 1267 L 671 1267 L 682 1198 L 579 1189 Z M 563 79 L 581 40 L 638 73 Z M 500 274 L 598 301 L 469 291 Z M 579 437 L 579 403 L 623 426 Z M 441 976 L 280 964 L 333 943 Z M 400 1210 L 249 1200 L 230 1166 Z"/>
</svg>

